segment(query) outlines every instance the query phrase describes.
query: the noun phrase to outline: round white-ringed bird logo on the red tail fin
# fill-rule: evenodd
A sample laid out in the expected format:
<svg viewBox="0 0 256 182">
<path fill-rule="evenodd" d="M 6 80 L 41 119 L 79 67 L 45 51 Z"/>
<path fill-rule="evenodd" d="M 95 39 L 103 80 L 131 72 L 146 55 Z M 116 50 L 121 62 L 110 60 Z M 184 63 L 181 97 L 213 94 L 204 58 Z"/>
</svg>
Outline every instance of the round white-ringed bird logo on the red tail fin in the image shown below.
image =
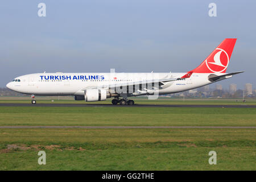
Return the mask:
<svg viewBox="0 0 256 182">
<path fill-rule="evenodd" d="M 210 71 L 215 73 L 221 73 L 229 65 L 229 56 L 226 51 L 220 48 L 216 48 L 213 53 L 205 60 L 207 67 Z"/>
</svg>

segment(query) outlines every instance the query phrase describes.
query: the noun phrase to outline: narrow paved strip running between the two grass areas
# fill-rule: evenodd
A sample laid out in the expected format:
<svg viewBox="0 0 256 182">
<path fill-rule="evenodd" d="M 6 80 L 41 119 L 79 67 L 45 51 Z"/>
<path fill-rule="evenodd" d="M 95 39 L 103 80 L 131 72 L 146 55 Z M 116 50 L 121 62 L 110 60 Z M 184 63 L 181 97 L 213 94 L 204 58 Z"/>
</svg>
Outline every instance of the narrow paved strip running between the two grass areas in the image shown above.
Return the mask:
<svg viewBox="0 0 256 182">
<path fill-rule="evenodd" d="M 256 126 L 0 126 L 0 129 L 256 129 Z"/>
</svg>

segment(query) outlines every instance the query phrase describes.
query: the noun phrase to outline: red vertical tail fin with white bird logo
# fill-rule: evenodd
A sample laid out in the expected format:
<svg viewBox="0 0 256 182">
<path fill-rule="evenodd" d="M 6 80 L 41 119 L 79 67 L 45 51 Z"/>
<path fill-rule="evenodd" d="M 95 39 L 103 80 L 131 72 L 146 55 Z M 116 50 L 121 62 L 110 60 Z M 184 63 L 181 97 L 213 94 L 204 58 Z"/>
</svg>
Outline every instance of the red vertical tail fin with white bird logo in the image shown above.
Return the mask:
<svg viewBox="0 0 256 182">
<path fill-rule="evenodd" d="M 199 65 L 193 69 L 194 73 L 225 73 L 237 39 L 225 39 L 216 49 Z"/>
</svg>

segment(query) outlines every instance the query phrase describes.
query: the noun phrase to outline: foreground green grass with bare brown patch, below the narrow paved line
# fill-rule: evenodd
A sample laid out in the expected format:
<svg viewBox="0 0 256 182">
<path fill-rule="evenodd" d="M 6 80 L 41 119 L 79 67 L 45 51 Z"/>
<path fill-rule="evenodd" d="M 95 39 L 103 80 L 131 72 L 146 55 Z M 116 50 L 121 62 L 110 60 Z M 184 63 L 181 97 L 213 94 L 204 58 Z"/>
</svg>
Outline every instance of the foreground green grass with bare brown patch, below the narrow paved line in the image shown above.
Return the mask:
<svg viewBox="0 0 256 182">
<path fill-rule="evenodd" d="M 1 170 L 255 170 L 254 129 L 1 129 Z M 7 151 L 7 144 L 27 150 Z M 47 164 L 37 163 L 39 150 Z M 217 152 L 217 165 L 208 152 Z"/>
</svg>

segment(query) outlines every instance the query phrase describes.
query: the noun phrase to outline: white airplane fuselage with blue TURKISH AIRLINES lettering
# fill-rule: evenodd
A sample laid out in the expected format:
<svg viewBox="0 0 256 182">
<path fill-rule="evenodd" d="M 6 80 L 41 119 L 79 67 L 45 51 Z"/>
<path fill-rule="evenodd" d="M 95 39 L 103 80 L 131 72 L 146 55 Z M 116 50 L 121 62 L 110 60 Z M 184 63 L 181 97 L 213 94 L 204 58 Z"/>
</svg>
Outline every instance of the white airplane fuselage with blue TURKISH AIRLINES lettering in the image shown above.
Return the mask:
<svg viewBox="0 0 256 182">
<path fill-rule="evenodd" d="M 41 96 L 84 96 L 84 89 L 90 86 L 102 86 L 177 78 L 186 73 L 35 73 L 16 77 L 6 86 L 16 92 Z M 215 73 L 223 75 L 224 73 Z M 193 73 L 184 80 L 164 83 L 159 94 L 183 92 L 212 83 L 210 73 Z"/>
</svg>

